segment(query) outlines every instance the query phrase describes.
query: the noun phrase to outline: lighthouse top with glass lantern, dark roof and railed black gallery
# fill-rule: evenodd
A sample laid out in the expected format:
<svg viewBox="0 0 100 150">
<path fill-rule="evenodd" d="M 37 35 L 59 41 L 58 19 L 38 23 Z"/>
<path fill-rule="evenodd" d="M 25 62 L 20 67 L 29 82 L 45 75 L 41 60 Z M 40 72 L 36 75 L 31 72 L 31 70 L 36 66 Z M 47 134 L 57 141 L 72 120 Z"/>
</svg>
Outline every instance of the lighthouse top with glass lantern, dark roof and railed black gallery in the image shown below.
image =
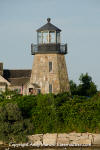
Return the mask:
<svg viewBox="0 0 100 150">
<path fill-rule="evenodd" d="M 31 44 L 31 54 L 67 54 L 67 44 L 61 44 L 60 32 L 47 18 L 47 23 L 37 30 L 37 44 Z"/>
</svg>

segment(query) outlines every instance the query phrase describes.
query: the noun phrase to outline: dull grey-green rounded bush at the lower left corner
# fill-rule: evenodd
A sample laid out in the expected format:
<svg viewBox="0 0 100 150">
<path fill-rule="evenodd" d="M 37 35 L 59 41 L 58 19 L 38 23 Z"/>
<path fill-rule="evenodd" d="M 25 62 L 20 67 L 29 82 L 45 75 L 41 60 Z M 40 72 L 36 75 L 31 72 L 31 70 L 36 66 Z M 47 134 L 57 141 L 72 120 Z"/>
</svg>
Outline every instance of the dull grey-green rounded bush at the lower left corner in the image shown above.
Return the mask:
<svg viewBox="0 0 100 150">
<path fill-rule="evenodd" d="M 30 119 L 24 120 L 17 103 L 6 103 L 0 106 L 0 140 L 26 141 L 26 135 L 32 133 Z"/>
</svg>

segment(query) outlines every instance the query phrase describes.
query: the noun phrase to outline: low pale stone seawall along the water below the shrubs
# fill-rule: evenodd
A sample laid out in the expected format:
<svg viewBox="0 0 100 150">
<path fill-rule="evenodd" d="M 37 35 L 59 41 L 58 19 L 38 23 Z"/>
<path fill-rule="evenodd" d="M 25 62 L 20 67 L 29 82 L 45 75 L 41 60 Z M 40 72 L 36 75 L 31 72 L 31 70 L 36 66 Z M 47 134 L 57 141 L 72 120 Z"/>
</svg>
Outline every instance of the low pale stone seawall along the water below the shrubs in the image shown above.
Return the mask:
<svg viewBox="0 0 100 150">
<path fill-rule="evenodd" d="M 47 133 L 31 135 L 28 138 L 33 146 L 100 146 L 100 134 L 92 133 Z"/>
</svg>

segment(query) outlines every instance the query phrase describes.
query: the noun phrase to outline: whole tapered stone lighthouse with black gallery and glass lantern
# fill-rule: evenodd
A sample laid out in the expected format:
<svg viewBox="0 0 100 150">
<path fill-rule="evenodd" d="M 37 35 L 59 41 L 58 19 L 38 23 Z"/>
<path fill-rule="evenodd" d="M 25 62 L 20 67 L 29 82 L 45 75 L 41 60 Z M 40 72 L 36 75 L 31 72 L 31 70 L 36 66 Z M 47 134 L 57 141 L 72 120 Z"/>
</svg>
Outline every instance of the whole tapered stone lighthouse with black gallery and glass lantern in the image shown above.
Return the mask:
<svg viewBox="0 0 100 150">
<path fill-rule="evenodd" d="M 34 55 L 30 83 L 31 92 L 62 93 L 69 92 L 68 73 L 65 62 L 67 44 L 61 44 L 61 30 L 50 23 L 37 30 L 37 44 L 31 44 Z M 32 91 L 33 90 L 33 91 Z"/>
</svg>

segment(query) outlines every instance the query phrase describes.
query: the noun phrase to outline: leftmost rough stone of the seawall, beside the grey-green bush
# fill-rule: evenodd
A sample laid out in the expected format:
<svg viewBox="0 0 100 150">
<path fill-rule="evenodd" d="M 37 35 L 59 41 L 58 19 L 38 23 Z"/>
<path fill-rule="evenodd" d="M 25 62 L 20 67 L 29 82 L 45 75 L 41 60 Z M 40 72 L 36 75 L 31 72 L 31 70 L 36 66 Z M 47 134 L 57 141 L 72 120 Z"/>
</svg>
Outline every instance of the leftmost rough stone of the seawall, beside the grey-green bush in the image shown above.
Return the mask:
<svg viewBox="0 0 100 150">
<path fill-rule="evenodd" d="M 43 134 L 36 134 L 28 136 L 29 142 L 34 146 L 42 146 L 43 145 Z"/>
</svg>

